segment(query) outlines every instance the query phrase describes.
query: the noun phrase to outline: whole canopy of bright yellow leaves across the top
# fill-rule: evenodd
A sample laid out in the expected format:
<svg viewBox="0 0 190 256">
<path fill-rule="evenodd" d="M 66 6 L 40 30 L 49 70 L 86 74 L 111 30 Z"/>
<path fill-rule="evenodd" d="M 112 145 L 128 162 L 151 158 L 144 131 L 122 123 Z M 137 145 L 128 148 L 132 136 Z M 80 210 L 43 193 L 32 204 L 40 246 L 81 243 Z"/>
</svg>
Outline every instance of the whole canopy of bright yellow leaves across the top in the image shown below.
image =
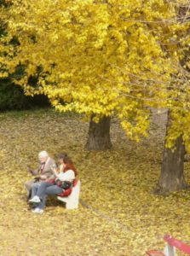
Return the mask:
<svg viewBox="0 0 190 256">
<path fill-rule="evenodd" d="M 96 121 L 115 113 L 136 141 L 147 136 L 147 106 L 174 108 L 168 145 L 184 132 L 189 144 L 189 1 L 9 2 L 2 76 L 21 66 L 16 82 L 26 94 L 44 93 L 61 112 L 95 113 Z"/>
</svg>

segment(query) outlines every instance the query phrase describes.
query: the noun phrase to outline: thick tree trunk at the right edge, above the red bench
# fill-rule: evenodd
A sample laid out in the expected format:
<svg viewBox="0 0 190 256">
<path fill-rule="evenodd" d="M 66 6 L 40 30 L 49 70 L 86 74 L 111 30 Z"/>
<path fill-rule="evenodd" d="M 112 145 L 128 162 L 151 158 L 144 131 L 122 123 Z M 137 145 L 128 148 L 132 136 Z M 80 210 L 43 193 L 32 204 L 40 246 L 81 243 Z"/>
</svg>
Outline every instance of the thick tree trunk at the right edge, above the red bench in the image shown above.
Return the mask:
<svg viewBox="0 0 190 256">
<path fill-rule="evenodd" d="M 168 113 L 167 131 L 170 127 L 170 113 Z M 156 194 L 166 195 L 172 191 L 186 189 L 187 184 L 183 173 L 184 169 L 185 146 L 182 136 L 176 139 L 175 148 L 164 147 L 164 157 L 161 167 L 161 173 L 158 181 L 158 187 L 155 189 Z"/>
</svg>

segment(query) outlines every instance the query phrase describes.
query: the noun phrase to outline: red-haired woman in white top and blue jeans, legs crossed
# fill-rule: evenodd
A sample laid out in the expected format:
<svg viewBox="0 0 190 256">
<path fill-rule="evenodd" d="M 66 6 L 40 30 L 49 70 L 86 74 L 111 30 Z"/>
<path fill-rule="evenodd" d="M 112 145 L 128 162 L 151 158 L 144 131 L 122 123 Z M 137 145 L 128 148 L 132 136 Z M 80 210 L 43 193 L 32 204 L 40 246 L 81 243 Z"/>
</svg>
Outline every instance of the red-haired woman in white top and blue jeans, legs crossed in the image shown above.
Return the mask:
<svg viewBox="0 0 190 256">
<path fill-rule="evenodd" d="M 49 179 L 46 182 L 41 182 L 35 190 L 35 194 L 30 202 L 36 203 L 32 212 L 43 213 L 46 199 L 48 195 L 59 195 L 66 189 L 72 186 L 75 177 L 78 175 L 77 170 L 73 166 L 72 160 L 67 154 L 59 154 L 58 162 L 60 164 L 58 170 L 52 168 L 55 173 L 55 179 Z"/>
</svg>

